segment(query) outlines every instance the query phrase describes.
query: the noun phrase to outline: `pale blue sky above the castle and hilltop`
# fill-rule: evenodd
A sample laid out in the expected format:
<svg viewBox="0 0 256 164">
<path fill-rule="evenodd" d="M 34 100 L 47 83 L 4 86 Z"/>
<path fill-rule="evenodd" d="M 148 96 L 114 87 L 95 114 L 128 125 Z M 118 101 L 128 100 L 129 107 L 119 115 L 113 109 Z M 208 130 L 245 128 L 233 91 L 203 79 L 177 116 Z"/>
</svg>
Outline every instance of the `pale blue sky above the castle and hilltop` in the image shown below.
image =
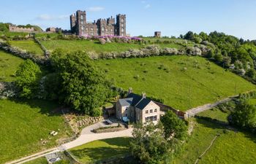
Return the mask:
<svg viewBox="0 0 256 164">
<path fill-rule="evenodd" d="M 87 20 L 127 15 L 132 36 L 179 36 L 187 31 L 222 31 L 256 39 L 255 0 L 0 0 L 0 22 L 69 29 L 69 15 L 86 10 Z"/>
</svg>

